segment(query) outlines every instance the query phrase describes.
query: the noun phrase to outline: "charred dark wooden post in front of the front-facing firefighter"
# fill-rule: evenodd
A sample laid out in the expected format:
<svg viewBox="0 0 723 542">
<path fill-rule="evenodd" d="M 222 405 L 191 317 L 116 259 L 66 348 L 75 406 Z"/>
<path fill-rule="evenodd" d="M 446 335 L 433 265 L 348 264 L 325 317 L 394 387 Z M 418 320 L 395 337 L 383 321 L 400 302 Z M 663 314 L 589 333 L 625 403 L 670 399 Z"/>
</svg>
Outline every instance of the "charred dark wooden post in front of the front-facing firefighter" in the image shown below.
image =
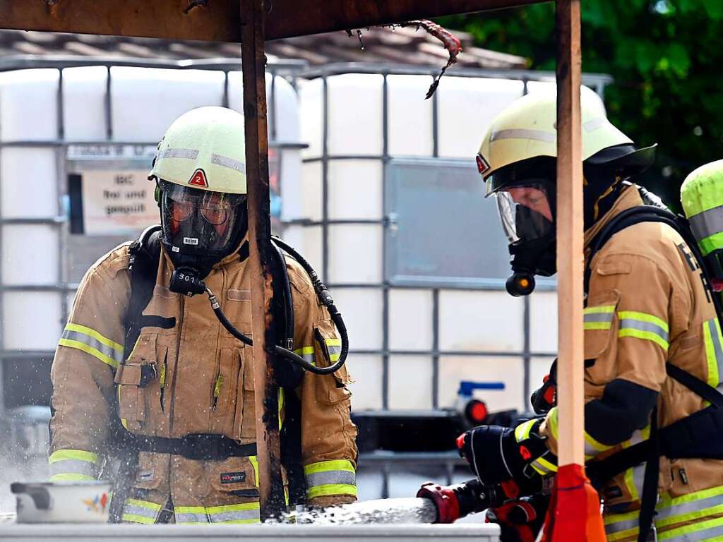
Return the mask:
<svg viewBox="0 0 723 542">
<path fill-rule="evenodd" d="M 241 70 L 246 119 L 246 176 L 249 209 L 249 265 L 251 266 L 252 329 L 256 443 L 261 520 L 278 517 L 285 508 L 281 481 L 278 394 L 266 345 L 270 336 L 273 298 L 270 264 L 268 132 L 264 55 L 264 0 L 241 0 Z"/>
</svg>

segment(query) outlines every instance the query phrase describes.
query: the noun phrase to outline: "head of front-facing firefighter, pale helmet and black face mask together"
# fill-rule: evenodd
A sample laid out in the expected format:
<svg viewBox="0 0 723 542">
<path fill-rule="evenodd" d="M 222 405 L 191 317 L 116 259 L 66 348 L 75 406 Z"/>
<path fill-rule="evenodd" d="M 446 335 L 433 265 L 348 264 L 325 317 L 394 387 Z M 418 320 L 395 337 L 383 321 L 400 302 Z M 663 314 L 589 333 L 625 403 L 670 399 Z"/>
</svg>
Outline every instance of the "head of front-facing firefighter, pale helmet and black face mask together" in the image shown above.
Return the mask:
<svg viewBox="0 0 723 542">
<path fill-rule="evenodd" d="M 245 158 L 244 117 L 231 109 L 192 109 L 166 130 L 148 178 L 157 183 L 162 241 L 176 267 L 205 276 L 239 248 L 247 232 Z"/>
</svg>

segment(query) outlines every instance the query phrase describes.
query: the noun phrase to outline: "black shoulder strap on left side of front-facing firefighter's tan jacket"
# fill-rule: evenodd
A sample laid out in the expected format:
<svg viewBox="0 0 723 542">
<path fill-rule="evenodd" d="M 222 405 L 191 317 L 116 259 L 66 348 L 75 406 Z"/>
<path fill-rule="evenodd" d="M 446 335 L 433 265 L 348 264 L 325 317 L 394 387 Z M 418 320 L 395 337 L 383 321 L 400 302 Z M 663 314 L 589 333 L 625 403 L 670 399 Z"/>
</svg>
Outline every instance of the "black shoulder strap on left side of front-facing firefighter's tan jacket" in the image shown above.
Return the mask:
<svg viewBox="0 0 723 542">
<path fill-rule="evenodd" d="M 128 301 L 124 327 L 125 355 L 129 356 L 141 330 L 141 314 L 153 297 L 155 275 L 161 260 L 161 226 L 146 228 L 129 246 L 130 262 L 128 271 L 131 282 L 131 295 Z"/>
</svg>

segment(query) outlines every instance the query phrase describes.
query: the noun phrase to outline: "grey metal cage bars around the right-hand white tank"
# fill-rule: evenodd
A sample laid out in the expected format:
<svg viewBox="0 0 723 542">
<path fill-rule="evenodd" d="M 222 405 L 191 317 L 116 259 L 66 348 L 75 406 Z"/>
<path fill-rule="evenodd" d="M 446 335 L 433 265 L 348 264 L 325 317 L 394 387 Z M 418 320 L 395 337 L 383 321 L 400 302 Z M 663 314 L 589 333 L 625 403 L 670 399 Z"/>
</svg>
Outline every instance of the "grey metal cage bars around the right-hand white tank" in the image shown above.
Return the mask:
<svg viewBox="0 0 723 542">
<path fill-rule="evenodd" d="M 432 410 L 409 410 L 406 412 L 408 416 L 448 416 L 448 411 L 440 409 L 439 398 L 439 380 L 440 380 L 440 358 L 443 356 L 460 356 L 460 357 L 479 357 L 485 356 L 490 358 L 521 358 L 523 360 L 523 404 L 527 404 L 531 393 L 530 382 L 530 366 L 532 358 L 555 358 L 555 353 L 534 352 L 531 350 L 530 340 L 530 299 L 523 298 L 523 345 L 522 350 L 513 351 L 489 351 L 489 350 L 441 350 L 440 349 L 440 291 L 505 291 L 504 280 L 499 284 L 485 284 L 471 286 L 467 283 L 459 283 L 456 285 L 393 285 L 387 278 L 387 256 L 388 247 L 386 246 L 390 219 L 385 215 L 388 206 L 386 197 L 388 194 L 388 163 L 393 160 L 389 154 L 389 131 L 388 121 L 390 117 L 389 93 L 387 78 L 390 75 L 427 75 L 435 77 L 439 73 L 439 69 L 433 66 L 390 66 L 385 64 L 367 64 L 367 63 L 338 63 L 329 64 L 327 66 L 315 67 L 294 73 L 294 79 L 322 79 L 322 150 L 321 154 L 315 157 L 302 158 L 303 163 L 321 163 L 322 166 L 322 205 L 321 219 L 309 220 L 305 218 L 286 220 L 286 225 L 299 225 L 301 227 L 321 227 L 321 269 L 322 278 L 329 276 L 329 226 L 335 224 L 344 225 L 381 225 L 384 228 L 382 233 L 382 270 L 381 283 L 328 283 L 330 290 L 333 292 L 335 288 L 364 288 L 382 291 L 382 348 L 380 349 L 359 349 L 351 345 L 349 353 L 351 355 L 375 355 L 382 357 L 382 410 L 364 412 L 364 416 L 388 416 L 393 411 L 389 410 L 389 375 L 390 375 L 390 356 L 429 356 L 432 359 Z M 328 78 L 342 74 L 377 74 L 382 75 L 382 153 L 380 155 L 332 155 L 329 152 L 329 95 L 328 95 Z M 555 72 L 533 71 L 524 69 L 474 69 L 474 68 L 453 68 L 448 70 L 445 77 L 479 77 L 493 79 L 516 79 L 523 82 L 523 95 L 527 93 L 528 82 L 544 81 L 554 82 Z M 583 84 L 593 88 L 601 98 L 604 95 L 606 85 L 612 83 L 612 77 L 607 74 L 583 74 Z M 294 83 L 294 87 L 296 84 Z M 438 87 L 434 95 L 432 95 L 432 156 L 431 158 L 440 158 L 439 153 L 439 95 L 444 92 L 443 87 Z M 382 218 L 375 219 L 333 219 L 330 218 L 329 212 L 329 164 L 333 160 L 380 160 L 382 162 Z M 283 199 L 283 194 L 282 194 Z M 395 350 L 390 348 L 390 325 L 389 325 L 389 294 L 391 289 L 414 289 L 431 291 L 432 293 L 432 348 L 427 350 Z M 551 289 L 547 286 L 547 289 Z M 554 286 L 552 287 L 554 289 Z M 343 308 L 342 308 L 343 309 Z M 390 475 L 393 468 L 398 465 L 428 465 L 440 467 L 443 469 L 443 476 L 446 483 L 453 483 L 455 478 L 455 468 L 463 466 L 456 452 L 367 452 L 360 456 L 361 465 L 364 467 L 371 466 L 375 470 L 382 473 L 382 498 L 390 496 Z"/>
</svg>

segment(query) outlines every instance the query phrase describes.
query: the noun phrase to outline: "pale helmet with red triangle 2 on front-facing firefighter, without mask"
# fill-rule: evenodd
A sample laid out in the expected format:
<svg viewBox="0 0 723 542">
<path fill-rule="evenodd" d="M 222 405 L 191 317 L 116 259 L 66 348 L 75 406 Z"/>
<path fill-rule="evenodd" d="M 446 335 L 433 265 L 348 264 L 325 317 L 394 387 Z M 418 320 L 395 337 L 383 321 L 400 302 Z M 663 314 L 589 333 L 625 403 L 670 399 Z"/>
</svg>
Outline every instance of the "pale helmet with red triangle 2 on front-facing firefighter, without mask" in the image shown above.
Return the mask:
<svg viewBox="0 0 723 542">
<path fill-rule="evenodd" d="M 158 144 L 148 178 L 226 194 L 246 194 L 244 116 L 218 106 L 182 114 Z"/>
</svg>

